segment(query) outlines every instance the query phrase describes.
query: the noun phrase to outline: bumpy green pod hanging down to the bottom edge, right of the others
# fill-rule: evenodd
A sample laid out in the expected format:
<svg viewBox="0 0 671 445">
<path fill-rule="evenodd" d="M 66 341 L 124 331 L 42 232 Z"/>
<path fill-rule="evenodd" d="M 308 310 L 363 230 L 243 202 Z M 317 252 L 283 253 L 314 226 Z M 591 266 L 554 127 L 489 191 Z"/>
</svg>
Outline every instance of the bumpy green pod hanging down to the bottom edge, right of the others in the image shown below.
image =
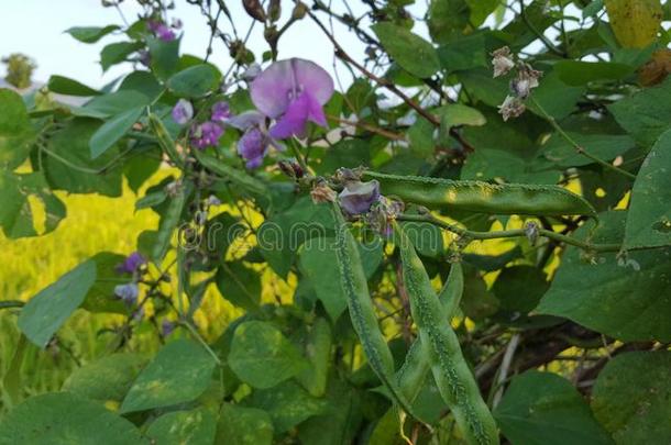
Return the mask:
<svg viewBox="0 0 671 445">
<path fill-rule="evenodd" d="M 410 311 L 427 349 L 431 371 L 442 399 L 470 444 L 498 444 L 496 423 L 459 345 L 444 319 L 444 309 L 410 240 L 396 225 L 403 262 L 403 277 L 410 298 Z"/>
</svg>

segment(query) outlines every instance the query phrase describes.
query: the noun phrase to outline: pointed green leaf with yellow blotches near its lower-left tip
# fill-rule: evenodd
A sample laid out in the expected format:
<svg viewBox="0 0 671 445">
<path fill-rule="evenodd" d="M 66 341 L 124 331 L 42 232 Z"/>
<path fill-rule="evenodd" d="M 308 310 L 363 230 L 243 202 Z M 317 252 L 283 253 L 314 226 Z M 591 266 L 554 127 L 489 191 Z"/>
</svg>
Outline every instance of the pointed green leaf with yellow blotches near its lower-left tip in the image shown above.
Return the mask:
<svg viewBox="0 0 671 445">
<path fill-rule="evenodd" d="M 213 357 L 197 343 L 187 340 L 168 343 L 140 372 L 120 412 L 190 402 L 210 386 L 216 366 Z"/>
</svg>

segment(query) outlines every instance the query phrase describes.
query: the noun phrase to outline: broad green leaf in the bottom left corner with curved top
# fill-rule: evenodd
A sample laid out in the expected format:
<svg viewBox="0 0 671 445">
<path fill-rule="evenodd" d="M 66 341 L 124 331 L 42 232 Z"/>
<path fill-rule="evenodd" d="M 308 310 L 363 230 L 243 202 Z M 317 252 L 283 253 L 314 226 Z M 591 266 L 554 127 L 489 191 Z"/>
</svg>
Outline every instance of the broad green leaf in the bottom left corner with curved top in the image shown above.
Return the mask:
<svg viewBox="0 0 671 445">
<path fill-rule="evenodd" d="M 4 416 L 0 445 L 139 445 L 148 442 L 128 420 L 68 392 L 28 399 Z"/>
</svg>

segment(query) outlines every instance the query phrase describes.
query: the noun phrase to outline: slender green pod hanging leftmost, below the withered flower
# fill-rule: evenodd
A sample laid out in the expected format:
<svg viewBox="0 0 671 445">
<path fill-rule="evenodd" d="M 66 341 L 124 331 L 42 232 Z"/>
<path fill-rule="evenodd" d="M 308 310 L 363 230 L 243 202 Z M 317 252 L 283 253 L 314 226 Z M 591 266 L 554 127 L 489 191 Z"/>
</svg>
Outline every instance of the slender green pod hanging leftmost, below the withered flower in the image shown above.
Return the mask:
<svg viewBox="0 0 671 445">
<path fill-rule="evenodd" d="M 361 264 L 356 241 L 346 226 L 338 203 L 333 203 L 332 212 L 337 224 L 336 257 L 340 269 L 340 286 L 348 299 L 352 325 L 356 331 L 371 368 L 399 407 L 411 414 L 410 404 L 396 385 L 394 357 L 377 324 L 377 316 L 369 292 L 369 283 Z"/>
</svg>

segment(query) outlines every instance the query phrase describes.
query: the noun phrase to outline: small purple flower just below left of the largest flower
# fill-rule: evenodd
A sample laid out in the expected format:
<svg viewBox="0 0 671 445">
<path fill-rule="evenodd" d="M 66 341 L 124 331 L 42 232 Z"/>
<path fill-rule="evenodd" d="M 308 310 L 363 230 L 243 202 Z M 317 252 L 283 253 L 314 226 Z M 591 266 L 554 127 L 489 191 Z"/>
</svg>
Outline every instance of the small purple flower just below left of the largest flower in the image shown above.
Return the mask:
<svg viewBox="0 0 671 445">
<path fill-rule="evenodd" d="M 248 111 L 224 122 L 244 132 L 238 141 L 238 153 L 246 160 L 248 168 L 260 167 L 271 145 L 284 151 L 284 147 L 271 137 L 265 126 L 265 118 L 257 111 Z"/>
</svg>

